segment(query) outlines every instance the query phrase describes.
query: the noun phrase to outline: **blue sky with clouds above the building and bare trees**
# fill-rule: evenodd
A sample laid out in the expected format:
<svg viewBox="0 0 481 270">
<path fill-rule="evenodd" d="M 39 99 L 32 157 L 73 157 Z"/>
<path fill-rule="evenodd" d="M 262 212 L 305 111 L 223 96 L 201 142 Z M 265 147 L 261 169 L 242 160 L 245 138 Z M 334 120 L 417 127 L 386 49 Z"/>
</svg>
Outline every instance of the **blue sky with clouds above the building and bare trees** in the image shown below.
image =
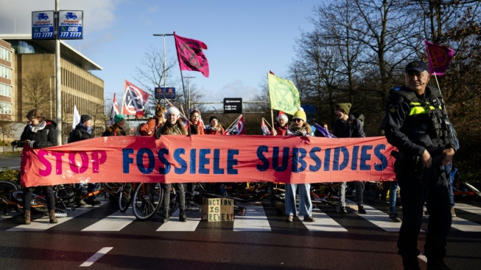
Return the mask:
<svg viewBox="0 0 481 270">
<path fill-rule="evenodd" d="M 105 99 L 121 96 L 123 81 L 135 83 L 150 45 L 163 49 L 156 33 L 176 33 L 207 44 L 210 77 L 192 84 L 205 93 L 204 101 L 224 97 L 250 100 L 272 70 L 287 75 L 295 39 L 310 31 L 313 8 L 309 0 L 59 0 L 59 8 L 84 11 L 83 40 L 67 43 L 103 67 L 94 74 L 105 82 Z M 0 33 L 31 33 L 31 12 L 54 10 L 54 0 L 0 0 Z M 175 56 L 173 37 L 166 37 L 167 58 Z M 176 75 L 180 78 L 180 71 Z M 180 87 L 180 86 L 177 86 Z M 153 88 L 153 86 L 152 86 Z M 120 102 L 121 99 L 118 98 Z M 120 104 L 119 104 L 120 105 Z"/>
</svg>

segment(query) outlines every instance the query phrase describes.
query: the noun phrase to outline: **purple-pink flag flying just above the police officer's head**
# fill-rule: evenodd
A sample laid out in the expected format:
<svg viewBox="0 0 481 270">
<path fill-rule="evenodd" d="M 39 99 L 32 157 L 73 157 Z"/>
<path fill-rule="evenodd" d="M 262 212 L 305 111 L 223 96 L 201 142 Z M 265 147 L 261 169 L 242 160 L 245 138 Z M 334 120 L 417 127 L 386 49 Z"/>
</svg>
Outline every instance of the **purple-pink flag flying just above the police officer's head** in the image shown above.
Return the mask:
<svg viewBox="0 0 481 270">
<path fill-rule="evenodd" d="M 431 75 L 443 76 L 454 55 L 451 48 L 436 45 L 424 39 L 426 52 L 429 60 L 429 73 Z"/>
</svg>

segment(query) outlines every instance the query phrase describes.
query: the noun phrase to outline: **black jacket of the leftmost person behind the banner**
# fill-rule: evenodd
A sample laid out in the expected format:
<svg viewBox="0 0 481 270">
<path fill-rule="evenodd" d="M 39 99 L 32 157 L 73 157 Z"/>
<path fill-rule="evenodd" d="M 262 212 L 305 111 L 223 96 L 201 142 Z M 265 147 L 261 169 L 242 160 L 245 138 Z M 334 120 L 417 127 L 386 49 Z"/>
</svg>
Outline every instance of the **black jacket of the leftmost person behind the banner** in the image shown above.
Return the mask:
<svg viewBox="0 0 481 270">
<path fill-rule="evenodd" d="M 45 125 L 42 123 L 45 122 Z M 57 123 L 52 120 L 44 120 L 38 123 L 38 128 L 27 125 L 24 132 L 21 133 L 20 141 L 31 140 L 33 148 L 46 148 L 57 145 Z M 19 144 L 22 147 L 24 145 Z"/>
</svg>

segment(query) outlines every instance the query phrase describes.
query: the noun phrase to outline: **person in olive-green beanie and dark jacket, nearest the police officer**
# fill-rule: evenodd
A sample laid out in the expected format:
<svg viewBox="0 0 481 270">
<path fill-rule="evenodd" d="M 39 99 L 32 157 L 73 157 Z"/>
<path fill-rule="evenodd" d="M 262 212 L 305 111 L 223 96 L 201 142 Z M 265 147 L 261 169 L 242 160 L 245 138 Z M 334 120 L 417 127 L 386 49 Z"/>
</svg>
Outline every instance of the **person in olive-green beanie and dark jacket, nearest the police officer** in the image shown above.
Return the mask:
<svg viewBox="0 0 481 270">
<path fill-rule="evenodd" d="M 351 110 L 351 103 L 339 103 L 336 105 L 334 113 L 336 114 L 336 121 L 333 126 L 334 136 L 338 138 L 364 138 L 363 122 L 354 117 L 349 116 L 349 110 Z M 339 201 L 341 214 L 347 214 L 346 210 L 346 182 L 339 183 Z M 358 213 L 365 214 L 366 210 L 363 206 L 363 192 L 364 183 L 361 181 L 354 181 L 354 186 L 356 188 L 356 202 L 358 205 Z"/>
</svg>

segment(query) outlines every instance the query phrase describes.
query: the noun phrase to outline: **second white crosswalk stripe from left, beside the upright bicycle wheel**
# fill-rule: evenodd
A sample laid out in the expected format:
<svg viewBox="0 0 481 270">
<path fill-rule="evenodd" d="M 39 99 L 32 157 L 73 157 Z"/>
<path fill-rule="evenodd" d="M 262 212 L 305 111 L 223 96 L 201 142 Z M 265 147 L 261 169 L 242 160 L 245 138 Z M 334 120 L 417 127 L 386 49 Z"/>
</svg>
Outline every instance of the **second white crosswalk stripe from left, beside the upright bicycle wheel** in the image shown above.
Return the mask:
<svg viewBox="0 0 481 270">
<path fill-rule="evenodd" d="M 98 232 L 113 232 L 120 231 L 125 226 L 129 225 L 135 220 L 135 215 L 132 207 L 129 207 L 125 213 L 117 211 L 110 216 L 102 218 L 98 222 L 83 229 L 82 231 L 98 231 Z"/>
</svg>

